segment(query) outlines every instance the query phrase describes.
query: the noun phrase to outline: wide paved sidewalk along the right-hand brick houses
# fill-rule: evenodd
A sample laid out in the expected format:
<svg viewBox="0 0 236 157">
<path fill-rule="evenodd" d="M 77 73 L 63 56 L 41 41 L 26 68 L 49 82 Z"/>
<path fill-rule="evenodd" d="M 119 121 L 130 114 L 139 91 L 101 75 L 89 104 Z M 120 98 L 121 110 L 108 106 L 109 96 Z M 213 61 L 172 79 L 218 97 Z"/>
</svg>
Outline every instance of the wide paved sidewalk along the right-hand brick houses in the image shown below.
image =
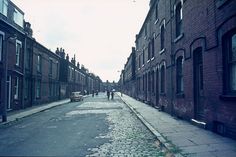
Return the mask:
<svg viewBox="0 0 236 157">
<path fill-rule="evenodd" d="M 120 96 L 120 93 L 118 93 Z M 175 119 L 165 112 L 137 101 L 125 94 L 121 99 L 176 156 L 235 157 L 236 141 L 200 129 L 187 121 Z"/>
</svg>

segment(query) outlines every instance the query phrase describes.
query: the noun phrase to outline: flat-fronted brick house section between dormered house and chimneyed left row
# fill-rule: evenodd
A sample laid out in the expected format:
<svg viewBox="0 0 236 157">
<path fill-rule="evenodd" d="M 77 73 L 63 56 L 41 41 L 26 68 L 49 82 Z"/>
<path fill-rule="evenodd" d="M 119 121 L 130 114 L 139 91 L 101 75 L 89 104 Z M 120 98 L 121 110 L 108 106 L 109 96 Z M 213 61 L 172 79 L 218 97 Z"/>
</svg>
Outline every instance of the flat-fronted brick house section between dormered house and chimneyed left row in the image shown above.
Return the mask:
<svg viewBox="0 0 236 157">
<path fill-rule="evenodd" d="M 35 41 L 32 60 L 32 79 L 29 81 L 32 83 L 33 104 L 58 100 L 59 56 Z"/>
</svg>

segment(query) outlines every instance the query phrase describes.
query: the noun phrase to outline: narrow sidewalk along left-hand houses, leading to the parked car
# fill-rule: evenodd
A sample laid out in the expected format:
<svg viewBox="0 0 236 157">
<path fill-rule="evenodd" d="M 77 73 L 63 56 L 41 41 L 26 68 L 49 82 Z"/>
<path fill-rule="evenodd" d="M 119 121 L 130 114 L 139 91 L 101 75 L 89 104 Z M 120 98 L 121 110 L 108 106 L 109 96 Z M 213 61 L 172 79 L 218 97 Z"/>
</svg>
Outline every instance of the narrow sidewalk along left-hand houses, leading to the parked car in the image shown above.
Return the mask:
<svg viewBox="0 0 236 157">
<path fill-rule="evenodd" d="M 59 100 L 59 101 L 55 101 L 55 102 L 48 103 L 48 104 L 42 104 L 42 105 L 29 107 L 24 110 L 13 111 L 12 113 L 10 112 L 7 115 L 7 122 L 2 122 L 2 119 L 0 118 L 0 125 L 8 124 L 8 123 L 16 121 L 18 119 L 33 115 L 38 112 L 45 111 L 49 108 L 53 108 L 53 107 L 56 107 L 56 106 L 59 106 L 59 105 L 62 105 L 62 104 L 68 103 L 68 102 L 70 102 L 70 99 L 64 99 L 64 100 Z"/>
</svg>

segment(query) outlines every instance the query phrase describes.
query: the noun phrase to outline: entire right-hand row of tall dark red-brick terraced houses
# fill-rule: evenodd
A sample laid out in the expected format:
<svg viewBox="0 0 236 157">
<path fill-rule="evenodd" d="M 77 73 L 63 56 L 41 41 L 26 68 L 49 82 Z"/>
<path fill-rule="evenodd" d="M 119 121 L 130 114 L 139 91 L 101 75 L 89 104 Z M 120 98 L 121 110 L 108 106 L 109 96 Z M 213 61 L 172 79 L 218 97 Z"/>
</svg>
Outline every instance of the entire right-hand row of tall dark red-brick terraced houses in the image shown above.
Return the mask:
<svg viewBox="0 0 236 157">
<path fill-rule="evenodd" d="M 151 0 L 119 83 L 161 111 L 236 139 L 236 1 Z"/>
</svg>

